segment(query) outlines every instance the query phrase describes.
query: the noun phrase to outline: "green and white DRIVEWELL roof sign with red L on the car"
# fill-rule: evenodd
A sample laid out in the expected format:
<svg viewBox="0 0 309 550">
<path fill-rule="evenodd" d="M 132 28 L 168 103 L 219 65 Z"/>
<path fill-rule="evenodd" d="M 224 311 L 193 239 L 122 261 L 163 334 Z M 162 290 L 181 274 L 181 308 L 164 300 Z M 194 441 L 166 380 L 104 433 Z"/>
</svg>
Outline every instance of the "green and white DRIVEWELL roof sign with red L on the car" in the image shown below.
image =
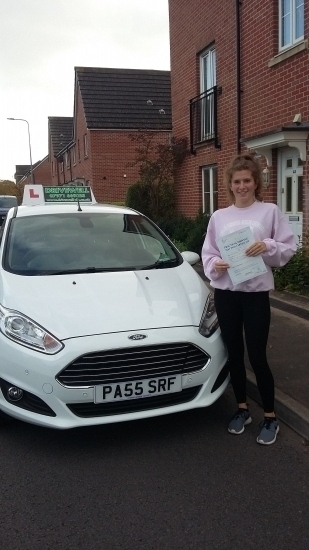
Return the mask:
<svg viewBox="0 0 309 550">
<path fill-rule="evenodd" d="M 91 187 L 48 187 L 45 185 L 25 185 L 23 204 L 51 204 L 51 203 L 94 203 Z"/>
</svg>

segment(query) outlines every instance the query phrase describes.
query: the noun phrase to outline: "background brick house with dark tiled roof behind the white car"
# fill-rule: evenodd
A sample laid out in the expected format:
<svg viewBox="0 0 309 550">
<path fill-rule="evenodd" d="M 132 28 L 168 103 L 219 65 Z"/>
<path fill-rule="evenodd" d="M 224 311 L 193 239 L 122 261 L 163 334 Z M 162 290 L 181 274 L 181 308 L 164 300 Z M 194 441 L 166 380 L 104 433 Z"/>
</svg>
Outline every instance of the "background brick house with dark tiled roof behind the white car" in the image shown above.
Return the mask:
<svg viewBox="0 0 309 550">
<path fill-rule="evenodd" d="M 132 136 L 151 131 L 159 142 L 170 139 L 170 72 L 77 67 L 74 117 L 49 117 L 49 129 L 54 185 L 78 180 L 99 202 L 123 202 L 139 175 Z"/>
</svg>

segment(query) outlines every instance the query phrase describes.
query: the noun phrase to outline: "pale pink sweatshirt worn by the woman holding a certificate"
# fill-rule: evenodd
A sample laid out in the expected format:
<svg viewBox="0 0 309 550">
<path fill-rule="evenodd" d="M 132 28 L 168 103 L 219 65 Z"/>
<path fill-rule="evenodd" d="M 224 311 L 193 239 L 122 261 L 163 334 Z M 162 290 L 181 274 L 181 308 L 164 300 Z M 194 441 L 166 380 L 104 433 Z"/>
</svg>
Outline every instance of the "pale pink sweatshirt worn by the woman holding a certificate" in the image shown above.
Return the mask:
<svg viewBox="0 0 309 550">
<path fill-rule="evenodd" d="M 250 227 L 256 241 L 263 241 L 266 244 L 267 250 L 262 254 L 262 258 L 266 264 L 267 273 L 233 285 L 227 272 L 218 273 L 215 270 L 215 263 L 222 259 L 216 239 L 244 227 Z M 232 205 L 213 213 L 202 249 L 202 260 L 205 275 L 214 288 L 260 292 L 274 288 L 271 268 L 285 265 L 295 252 L 294 235 L 278 206 L 255 201 L 246 208 L 237 208 Z"/>
</svg>

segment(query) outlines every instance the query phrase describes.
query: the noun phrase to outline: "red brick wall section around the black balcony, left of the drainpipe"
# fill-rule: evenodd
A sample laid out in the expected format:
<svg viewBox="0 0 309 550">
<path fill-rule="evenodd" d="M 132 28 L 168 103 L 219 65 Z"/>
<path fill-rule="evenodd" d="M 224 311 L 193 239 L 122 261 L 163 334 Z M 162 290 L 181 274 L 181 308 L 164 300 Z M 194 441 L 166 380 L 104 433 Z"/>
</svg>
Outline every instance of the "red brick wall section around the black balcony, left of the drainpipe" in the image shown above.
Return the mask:
<svg viewBox="0 0 309 550">
<path fill-rule="evenodd" d="M 215 42 L 222 149 L 207 144 L 191 155 L 176 176 L 178 209 L 194 216 L 202 206 L 202 167 L 218 164 L 219 194 L 225 200 L 223 170 L 237 151 L 236 45 L 234 3 L 211 0 L 170 0 L 170 41 L 173 133 L 190 136 L 189 100 L 199 94 L 199 53 Z"/>
</svg>

